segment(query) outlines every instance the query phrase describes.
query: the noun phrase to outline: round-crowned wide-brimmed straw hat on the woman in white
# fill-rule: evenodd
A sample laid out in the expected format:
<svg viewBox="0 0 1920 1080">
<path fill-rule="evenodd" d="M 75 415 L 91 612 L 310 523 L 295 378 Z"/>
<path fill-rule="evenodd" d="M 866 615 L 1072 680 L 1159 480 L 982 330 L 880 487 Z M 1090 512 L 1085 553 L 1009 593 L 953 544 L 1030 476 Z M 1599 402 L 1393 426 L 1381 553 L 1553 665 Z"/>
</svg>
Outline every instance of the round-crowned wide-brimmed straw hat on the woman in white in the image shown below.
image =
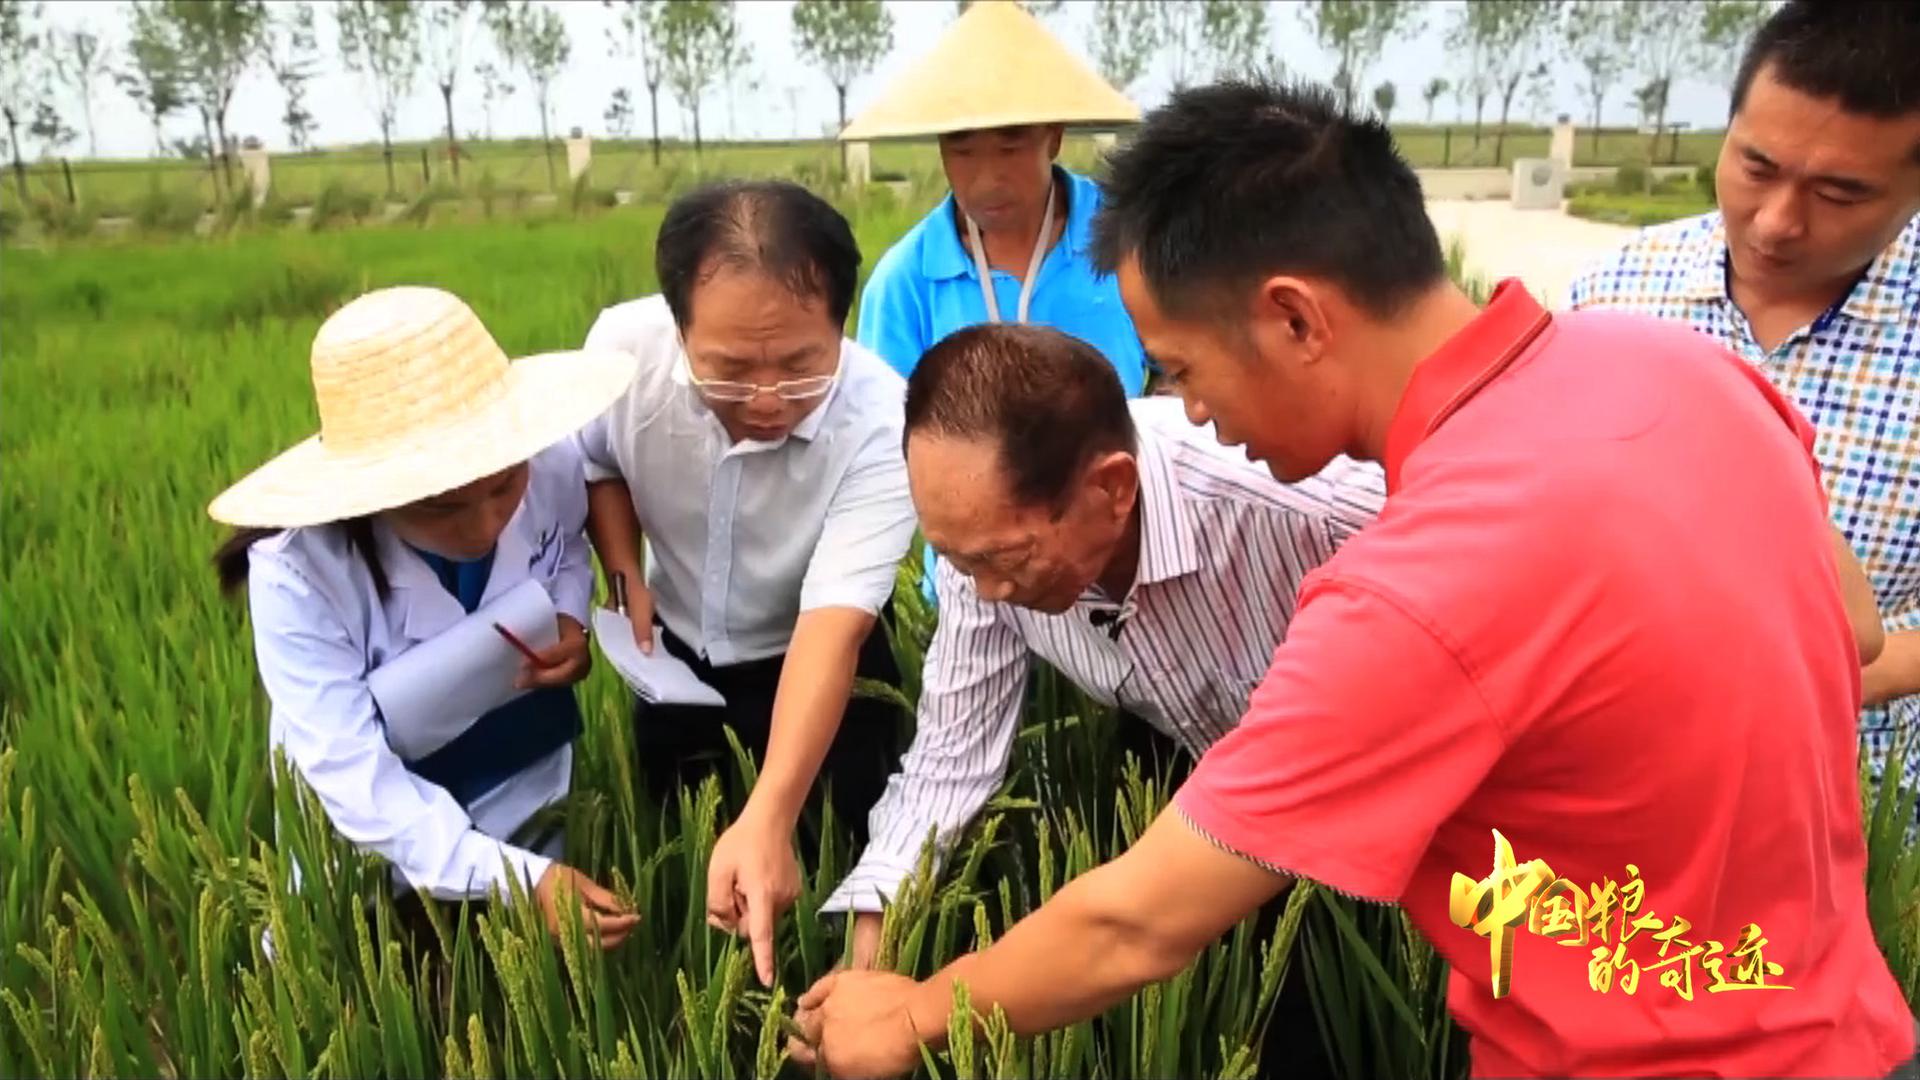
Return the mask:
<svg viewBox="0 0 1920 1080">
<path fill-rule="evenodd" d="M 584 427 L 626 390 L 634 365 L 626 352 L 509 361 L 451 292 L 369 292 L 313 336 L 321 434 L 227 488 L 207 513 L 294 528 L 449 492 Z"/>
</svg>

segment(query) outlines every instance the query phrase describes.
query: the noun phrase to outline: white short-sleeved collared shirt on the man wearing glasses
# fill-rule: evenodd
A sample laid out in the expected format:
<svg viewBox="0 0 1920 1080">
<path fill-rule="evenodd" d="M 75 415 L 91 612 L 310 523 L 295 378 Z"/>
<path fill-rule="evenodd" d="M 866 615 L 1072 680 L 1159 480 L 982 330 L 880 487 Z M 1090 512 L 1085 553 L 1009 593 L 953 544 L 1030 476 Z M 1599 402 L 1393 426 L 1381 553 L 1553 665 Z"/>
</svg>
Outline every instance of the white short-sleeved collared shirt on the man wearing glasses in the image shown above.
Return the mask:
<svg viewBox="0 0 1920 1080">
<path fill-rule="evenodd" d="M 843 340 L 833 390 L 793 434 L 735 444 L 687 382 L 664 298 L 601 311 L 586 344 L 639 357 L 574 442 L 588 480 L 626 480 L 653 611 L 674 636 L 733 665 L 785 653 L 803 611 L 887 603 L 916 519 L 906 382 L 885 361 Z"/>
</svg>

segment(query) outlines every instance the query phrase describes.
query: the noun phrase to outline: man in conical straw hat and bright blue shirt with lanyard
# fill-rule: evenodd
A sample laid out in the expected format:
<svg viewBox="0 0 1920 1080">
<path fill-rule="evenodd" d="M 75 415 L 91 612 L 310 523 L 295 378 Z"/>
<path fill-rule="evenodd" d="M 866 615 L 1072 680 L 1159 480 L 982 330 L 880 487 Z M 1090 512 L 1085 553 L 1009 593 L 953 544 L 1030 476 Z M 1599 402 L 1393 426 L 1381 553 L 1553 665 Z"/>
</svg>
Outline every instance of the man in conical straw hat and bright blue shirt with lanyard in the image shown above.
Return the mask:
<svg viewBox="0 0 1920 1080">
<path fill-rule="evenodd" d="M 1087 258 L 1100 190 L 1054 163 L 1069 123 L 1140 119 L 1018 4 L 983 0 L 843 140 L 939 136 L 952 194 L 902 236 L 860 298 L 860 344 L 912 375 L 977 323 L 1041 323 L 1100 350 L 1127 396 L 1146 359 L 1119 288 Z"/>
</svg>

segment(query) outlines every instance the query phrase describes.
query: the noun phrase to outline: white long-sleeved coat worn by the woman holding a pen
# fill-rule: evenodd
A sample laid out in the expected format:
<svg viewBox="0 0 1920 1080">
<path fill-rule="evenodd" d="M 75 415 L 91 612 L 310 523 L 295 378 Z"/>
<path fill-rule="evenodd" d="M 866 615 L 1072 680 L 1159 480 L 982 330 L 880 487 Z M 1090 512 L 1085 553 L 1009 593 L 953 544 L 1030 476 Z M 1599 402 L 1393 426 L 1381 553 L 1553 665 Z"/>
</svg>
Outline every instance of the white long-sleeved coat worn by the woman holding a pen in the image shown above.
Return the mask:
<svg viewBox="0 0 1920 1080">
<path fill-rule="evenodd" d="M 572 446 L 530 461 L 526 496 L 493 548 L 482 603 L 526 578 L 588 625 L 593 563 L 586 482 Z M 248 603 L 259 678 L 273 703 L 271 744 L 286 751 L 332 826 L 384 857 L 394 876 L 442 899 L 486 896 L 505 869 L 530 888 L 547 855 L 509 838 L 566 796 L 572 746 L 563 746 L 472 801 L 468 809 L 407 771 L 367 688 L 367 675 L 465 619 L 434 571 L 374 521 L 388 596 L 338 525 L 290 528 L 250 548 Z M 478 717 L 474 717 L 478 719 Z"/>
</svg>

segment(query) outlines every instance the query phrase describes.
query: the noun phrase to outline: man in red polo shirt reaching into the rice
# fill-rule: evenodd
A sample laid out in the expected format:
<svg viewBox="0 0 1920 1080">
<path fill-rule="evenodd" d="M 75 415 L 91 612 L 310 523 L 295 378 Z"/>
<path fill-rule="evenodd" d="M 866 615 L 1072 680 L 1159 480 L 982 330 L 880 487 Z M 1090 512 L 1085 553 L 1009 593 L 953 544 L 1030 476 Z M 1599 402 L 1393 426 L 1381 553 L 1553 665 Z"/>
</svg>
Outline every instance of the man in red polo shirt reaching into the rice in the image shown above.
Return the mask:
<svg viewBox="0 0 1920 1080">
<path fill-rule="evenodd" d="M 1131 851 L 925 984 L 828 976 L 803 1059 L 910 1068 L 954 980 L 1016 1032 L 1096 1015 L 1294 874 L 1405 905 L 1476 1074 L 1912 1055 L 1862 884 L 1878 623 L 1764 379 L 1513 282 L 1476 309 L 1386 129 L 1319 88 L 1175 94 L 1110 163 L 1096 256 L 1194 421 L 1283 480 L 1382 461 L 1386 507 Z"/>
</svg>

